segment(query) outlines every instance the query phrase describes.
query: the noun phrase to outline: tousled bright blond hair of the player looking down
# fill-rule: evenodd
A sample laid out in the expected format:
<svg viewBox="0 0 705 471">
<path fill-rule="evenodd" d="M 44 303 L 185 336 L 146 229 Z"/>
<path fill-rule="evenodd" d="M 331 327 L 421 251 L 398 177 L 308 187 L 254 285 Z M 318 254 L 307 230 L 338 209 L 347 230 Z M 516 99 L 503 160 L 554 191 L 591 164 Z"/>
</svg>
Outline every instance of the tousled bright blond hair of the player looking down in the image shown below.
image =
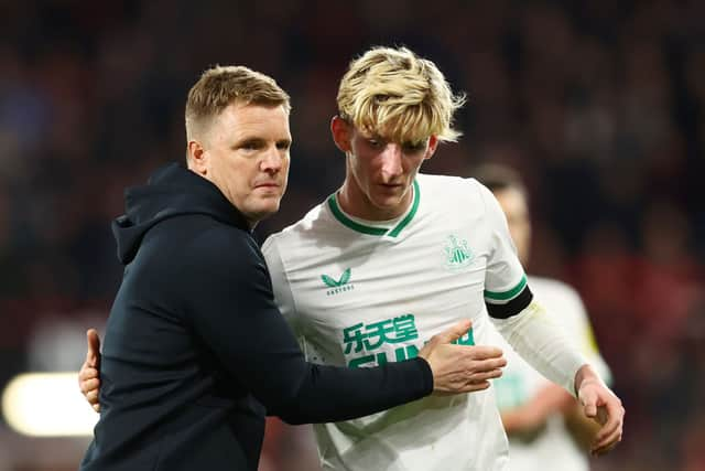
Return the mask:
<svg viewBox="0 0 705 471">
<path fill-rule="evenodd" d="M 397 142 L 460 136 L 453 116 L 465 95 L 454 95 L 438 67 L 406 47 L 373 47 L 350 62 L 337 101 L 343 119 Z"/>
</svg>

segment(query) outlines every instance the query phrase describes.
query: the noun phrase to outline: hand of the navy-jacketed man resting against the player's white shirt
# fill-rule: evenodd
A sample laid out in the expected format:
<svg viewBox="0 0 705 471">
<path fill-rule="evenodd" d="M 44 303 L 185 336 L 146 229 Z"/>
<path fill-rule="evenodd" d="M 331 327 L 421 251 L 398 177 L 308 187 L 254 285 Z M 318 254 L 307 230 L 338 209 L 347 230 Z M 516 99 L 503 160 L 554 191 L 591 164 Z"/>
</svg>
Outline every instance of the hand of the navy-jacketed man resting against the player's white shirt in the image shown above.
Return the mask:
<svg viewBox="0 0 705 471">
<path fill-rule="evenodd" d="M 495 346 L 454 345 L 470 329 L 469 320 L 434 335 L 419 352 L 433 372 L 435 394 L 473 393 L 487 389 L 489 379 L 500 377 L 507 360 Z"/>
</svg>

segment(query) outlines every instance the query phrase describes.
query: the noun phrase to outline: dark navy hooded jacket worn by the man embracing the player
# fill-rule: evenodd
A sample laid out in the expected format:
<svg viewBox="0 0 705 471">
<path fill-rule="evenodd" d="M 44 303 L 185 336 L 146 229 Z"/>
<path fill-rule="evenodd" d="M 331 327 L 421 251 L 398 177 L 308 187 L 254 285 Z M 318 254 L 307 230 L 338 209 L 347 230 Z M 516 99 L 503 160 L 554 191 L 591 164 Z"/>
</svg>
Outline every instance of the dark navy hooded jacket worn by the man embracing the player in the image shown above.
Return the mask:
<svg viewBox="0 0 705 471">
<path fill-rule="evenodd" d="M 307 363 L 274 304 L 242 215 L 178 164 L 126 192 L 126 265 L 102 346 L 93 471 L 257 470 L 264 415 L 369 415 L 431 393 L 422 358 L 348 370 Z"/>
</svg>

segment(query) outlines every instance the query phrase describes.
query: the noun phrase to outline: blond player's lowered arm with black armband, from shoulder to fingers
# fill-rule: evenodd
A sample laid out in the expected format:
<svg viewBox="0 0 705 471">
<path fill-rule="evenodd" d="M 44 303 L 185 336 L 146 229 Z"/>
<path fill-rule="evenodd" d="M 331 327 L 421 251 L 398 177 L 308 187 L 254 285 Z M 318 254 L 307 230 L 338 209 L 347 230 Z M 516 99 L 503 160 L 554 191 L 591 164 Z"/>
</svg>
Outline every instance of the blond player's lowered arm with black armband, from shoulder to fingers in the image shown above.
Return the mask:
<svg viewBox="0 0 705 471">
<path fill-rule="evenodd" d="M 533 301 L 509 236 L 507 220 L 489 190 L 480 186 L 487 212 L 490 254 L 485 278 L 488 313 L 499 332 L 531 366 L 570 394 L 583 413 L 600 422 L 592 452 L 604 453 L 621 440 L 625 409 L 567 335 Z"/>
</svg>

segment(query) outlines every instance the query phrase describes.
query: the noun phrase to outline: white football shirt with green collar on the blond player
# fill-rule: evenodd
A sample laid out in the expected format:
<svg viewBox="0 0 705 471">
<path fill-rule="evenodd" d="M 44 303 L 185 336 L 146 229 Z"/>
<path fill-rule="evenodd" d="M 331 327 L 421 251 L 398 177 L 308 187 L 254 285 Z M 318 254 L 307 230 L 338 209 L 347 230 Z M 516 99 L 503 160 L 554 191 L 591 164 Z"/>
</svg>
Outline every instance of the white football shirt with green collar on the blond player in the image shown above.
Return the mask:
<svg viewBox="0 0 705 471">
<path fill-rule="evenodd" d="M 509 302 L 527 283 L 503 213 L 473 179 L 417 175 L 408 212 L 388 222 L 351 217 L 332 195 L 262 251 L 306 357 L 332 365 L 412 357 L 462 319 L 473 329 L 460 343 L 488 343 L 486 300 Z M 324 469 L 492 471 L 508 459 L 491 389 L 314 430 Z"/>
</svg>

